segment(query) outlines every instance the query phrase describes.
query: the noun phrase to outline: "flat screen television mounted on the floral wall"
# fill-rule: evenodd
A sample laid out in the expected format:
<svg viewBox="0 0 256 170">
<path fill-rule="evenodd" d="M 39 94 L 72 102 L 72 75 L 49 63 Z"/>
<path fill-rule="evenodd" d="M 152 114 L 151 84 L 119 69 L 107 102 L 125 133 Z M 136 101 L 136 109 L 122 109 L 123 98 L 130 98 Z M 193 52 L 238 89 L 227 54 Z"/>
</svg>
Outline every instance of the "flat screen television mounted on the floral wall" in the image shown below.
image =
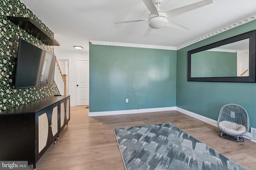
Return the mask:
<svg viewBox="0 0 256 170">
<path fill-rule="evenodd" d="M 14 88 L 51 86 L 56 57 L 20 38 Z"/>
</svg>

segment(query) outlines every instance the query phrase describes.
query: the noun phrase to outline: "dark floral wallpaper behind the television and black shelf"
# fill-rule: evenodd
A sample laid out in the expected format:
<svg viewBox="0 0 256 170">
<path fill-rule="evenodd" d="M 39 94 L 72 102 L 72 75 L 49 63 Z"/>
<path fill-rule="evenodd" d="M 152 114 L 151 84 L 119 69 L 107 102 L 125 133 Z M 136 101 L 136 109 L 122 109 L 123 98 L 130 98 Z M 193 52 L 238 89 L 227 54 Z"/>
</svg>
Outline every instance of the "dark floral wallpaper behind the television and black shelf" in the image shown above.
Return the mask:
<svg viewBox="0 0 256 170">
<path fill-rule="evenodd" d="M 53 86 L 14 89 L 19 38 L 52 54 L 54 53 L 54 48 L 53 46 L 45 45 L 36 37 L 9 21 L 7 16 L 31 18 L 53 37 L 52 31 L 20 0 L 0 1 L 0 112 L 59 94 L 55 83 Z"/>
</svg>

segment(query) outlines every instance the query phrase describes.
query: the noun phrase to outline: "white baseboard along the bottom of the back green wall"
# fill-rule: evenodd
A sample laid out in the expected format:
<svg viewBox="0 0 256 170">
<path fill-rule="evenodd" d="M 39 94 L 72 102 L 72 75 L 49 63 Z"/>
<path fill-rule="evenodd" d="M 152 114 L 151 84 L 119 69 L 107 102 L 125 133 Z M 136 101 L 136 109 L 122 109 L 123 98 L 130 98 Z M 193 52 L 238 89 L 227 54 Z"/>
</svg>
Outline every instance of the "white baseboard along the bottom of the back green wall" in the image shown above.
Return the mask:
<svg viewBox="0 0 256 170">
<path fill-rule="evenodd" d="M 133 109 L 133 110 L 117 110 L 117 111 L 96 111 L 96 112 L 88 112 L 88 116 L 106 116 L 106 115 L 122 115 L 122 114 L 134 114 L 134 113 L 147 113 L 147 112 L 155 112 L 155 111 L 170 111 L 176 110 L 176 106 L 174 107 L 159 107 L 159 108 L 149 108 L 149 109 Z"/>
</svg>

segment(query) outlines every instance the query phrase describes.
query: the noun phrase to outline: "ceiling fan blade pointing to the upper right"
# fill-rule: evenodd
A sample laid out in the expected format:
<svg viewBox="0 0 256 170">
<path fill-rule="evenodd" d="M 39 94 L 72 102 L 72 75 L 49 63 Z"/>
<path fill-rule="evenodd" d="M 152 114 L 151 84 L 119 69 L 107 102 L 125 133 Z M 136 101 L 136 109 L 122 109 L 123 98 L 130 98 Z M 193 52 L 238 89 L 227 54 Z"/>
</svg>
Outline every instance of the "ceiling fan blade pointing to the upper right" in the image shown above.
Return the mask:
<svg viewBox="0 0 256 170">
<path fill-rule="evenodd" d="M 166 11 L 165 14 L 168 16 L 168 18 L 172 18 L 174 16 L 178 16 L 180 14 L 192 11 L 196 8 L 200 8 L 202 6 L 206 6 L 206 5 L 212 4 L 212 3 L 213 3 L 212 0 L 202 0 L 202 1 L 196 2 L 194 4 L 190 4 L 187 6 L 182 6 L 180 8 L 176 8 L 174 10 Z"/>
</svg>

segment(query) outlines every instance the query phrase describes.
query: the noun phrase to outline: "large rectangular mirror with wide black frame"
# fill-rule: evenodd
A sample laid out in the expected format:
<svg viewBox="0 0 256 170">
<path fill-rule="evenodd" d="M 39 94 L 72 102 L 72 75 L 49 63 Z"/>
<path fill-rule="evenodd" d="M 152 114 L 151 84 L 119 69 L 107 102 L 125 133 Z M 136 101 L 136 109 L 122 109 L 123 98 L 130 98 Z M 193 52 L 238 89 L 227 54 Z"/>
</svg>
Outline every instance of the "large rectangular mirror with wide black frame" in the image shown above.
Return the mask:
<svg viewBox="0 0 256 170">
<path fill-rule="evenodd" d="M 188 81 L 256 82 L 256 30 L 188 51 Z"/>
</svg>

